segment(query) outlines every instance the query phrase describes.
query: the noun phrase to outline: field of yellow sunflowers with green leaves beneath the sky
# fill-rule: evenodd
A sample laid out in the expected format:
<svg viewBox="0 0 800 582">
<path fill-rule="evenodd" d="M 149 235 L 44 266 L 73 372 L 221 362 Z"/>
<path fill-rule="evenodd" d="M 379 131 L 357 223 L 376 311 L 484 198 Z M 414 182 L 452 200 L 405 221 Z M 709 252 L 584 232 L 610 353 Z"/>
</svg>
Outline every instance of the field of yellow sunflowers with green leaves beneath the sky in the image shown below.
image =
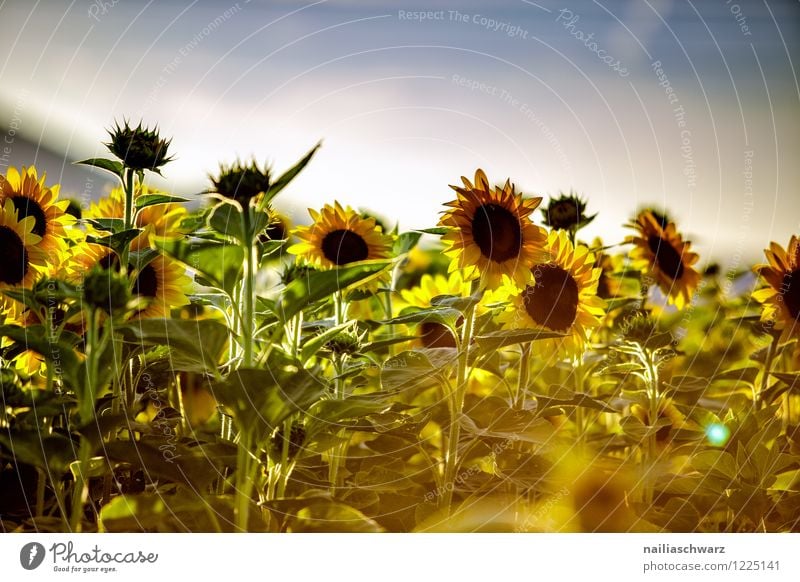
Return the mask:
<svg viewBox="0 0 800 582">
<path fill-rule="evenodd" d="M 725 272 L 668 210 L 584 240 L 590 201 L 480 169 L 424 231 L 293 228 L 319 146 L 197 204 L 109 133 L 88 209 L 0 176 L 3 531 L 800 531 L 797 236 Z"/>
</svg>

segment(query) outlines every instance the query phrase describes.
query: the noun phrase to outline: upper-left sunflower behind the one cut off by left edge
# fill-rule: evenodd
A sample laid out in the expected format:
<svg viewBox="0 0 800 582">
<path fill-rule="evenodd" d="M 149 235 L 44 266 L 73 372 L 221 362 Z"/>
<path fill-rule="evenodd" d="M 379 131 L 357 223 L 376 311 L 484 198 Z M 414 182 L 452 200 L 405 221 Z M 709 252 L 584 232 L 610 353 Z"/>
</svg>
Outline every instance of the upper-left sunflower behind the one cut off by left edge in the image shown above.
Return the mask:
<svg viewBox="0 0 800 582">
<path fill-rule="evenodd" d="M 23 166 L 22 172 L 9 168 L 0 176 L 0 204 L 10 200 L 20 219 L 33 218 L 33 233 L 41 238 L 38 246 L 57 263 L 67 250 L 68 229 L 75 224 L 75 217 L 66 212 L 69 200 L 58 200 L 60 186 L 45 186 L 45 177 L 39 178 L 34 167 Z"/>
</svg>

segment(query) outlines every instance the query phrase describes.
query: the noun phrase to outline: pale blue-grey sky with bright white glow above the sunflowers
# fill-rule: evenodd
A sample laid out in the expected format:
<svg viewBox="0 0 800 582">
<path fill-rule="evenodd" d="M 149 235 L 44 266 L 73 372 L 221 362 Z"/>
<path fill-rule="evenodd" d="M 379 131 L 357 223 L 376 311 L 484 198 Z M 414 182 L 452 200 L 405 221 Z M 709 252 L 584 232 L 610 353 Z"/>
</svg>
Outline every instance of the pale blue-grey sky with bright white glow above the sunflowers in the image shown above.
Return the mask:
<svg viewBox="0 0 800 582">
<path fill-rule="evenodd" d="M 295 221 L 336 199 L 435 226 L 480 167 L 581 193 L 587 239 L 657 205 L 744 266 L 800 232 L 799 62 L 796 0 L 0 0 L 0 171 L 87 202 L 107 182 L 72 162 L 141 119 L 173 140 L 154 183 L 194 197 L 322 140 L 277 200 Z"/>
</svg>

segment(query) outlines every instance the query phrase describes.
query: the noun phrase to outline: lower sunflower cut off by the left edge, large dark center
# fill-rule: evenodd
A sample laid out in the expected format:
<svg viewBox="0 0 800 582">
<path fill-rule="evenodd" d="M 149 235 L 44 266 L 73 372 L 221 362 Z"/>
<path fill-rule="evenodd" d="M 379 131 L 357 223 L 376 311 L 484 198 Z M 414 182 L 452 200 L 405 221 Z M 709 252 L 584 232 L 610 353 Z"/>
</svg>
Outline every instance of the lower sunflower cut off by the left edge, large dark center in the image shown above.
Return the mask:
<svg viewBox="0 0 800 582">
<path fill-rule="evenodd" d="M 18 218 L 13 200 L 0 205 L 0 291 L 11 287 L 29 288 L 46 269 L 47 253 L 42 237 L 35 233 L 36 218 Z"/>
</svg>

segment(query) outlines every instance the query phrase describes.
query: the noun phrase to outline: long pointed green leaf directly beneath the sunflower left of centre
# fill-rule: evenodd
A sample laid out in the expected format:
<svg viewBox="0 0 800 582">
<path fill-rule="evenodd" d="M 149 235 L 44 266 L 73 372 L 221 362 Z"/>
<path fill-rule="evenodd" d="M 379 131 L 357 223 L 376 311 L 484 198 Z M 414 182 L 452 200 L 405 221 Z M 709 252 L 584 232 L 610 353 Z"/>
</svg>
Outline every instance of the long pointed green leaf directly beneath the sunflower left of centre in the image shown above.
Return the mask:
<svg viewBox="0 0 800 582">
<path fill-rule="evenodd" d="M 359 283 L 377 277 L 392 261 L 363 261 L 350 266 L 315 271 L 307 277 L 295 279 L 281 292 L 275 306 L 276 313 L 288 321 L 306 307 Z"/>
</svg>

